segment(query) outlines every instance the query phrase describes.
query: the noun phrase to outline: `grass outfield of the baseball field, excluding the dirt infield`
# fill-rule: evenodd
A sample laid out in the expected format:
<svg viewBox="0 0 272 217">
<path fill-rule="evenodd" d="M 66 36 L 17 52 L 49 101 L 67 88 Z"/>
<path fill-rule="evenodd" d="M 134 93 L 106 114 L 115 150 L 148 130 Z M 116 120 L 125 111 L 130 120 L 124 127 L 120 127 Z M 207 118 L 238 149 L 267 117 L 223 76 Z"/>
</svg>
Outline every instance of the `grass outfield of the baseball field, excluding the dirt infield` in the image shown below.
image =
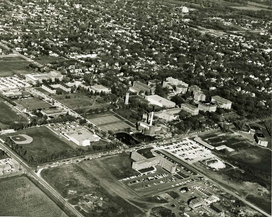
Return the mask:
<svg viewBox="0 0 272 217">
<path fill-rule="evenodd" d="M 64 150 L 72 150 L 73 148 L 60 140 L 57 135 L 51 132 L 47 127 L 27 128 L 24 130 L 16 131 L 8 134 L 9 136 L 15 136 L 20 134 L 26 134 L 33 138 L 33 141 L 29 144 L 21 144 L 24 149 L 27 150 L 26 155 L 32 156 L 35 160 L 46 158 L 50 155 L 56 155 Z M 26 156 L 24 156 L 26 158 Z"/>
</svg>

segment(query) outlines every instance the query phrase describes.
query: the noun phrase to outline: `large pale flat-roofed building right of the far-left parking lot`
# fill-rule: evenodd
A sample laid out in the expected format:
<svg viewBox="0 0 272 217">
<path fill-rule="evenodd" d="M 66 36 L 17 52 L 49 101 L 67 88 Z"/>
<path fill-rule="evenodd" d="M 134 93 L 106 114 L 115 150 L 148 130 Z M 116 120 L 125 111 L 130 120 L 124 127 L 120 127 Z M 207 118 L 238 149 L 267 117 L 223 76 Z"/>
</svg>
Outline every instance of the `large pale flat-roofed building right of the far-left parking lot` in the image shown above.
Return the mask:
<svg viewBox="0 0 272 217">
<path fill-rule="evenodd" d="M 56 71 L 51 71 L 50 73 L 44 74 L 25 74 L 25 80 L 31 84 L 37 84 L 37 82 L 42 83 L 42 80 L 48 81 L 50 78 L 52 79 L 52 82 L 55 81 L 55 78 L 62 81 L 63 75 Z"/>
</svg>

